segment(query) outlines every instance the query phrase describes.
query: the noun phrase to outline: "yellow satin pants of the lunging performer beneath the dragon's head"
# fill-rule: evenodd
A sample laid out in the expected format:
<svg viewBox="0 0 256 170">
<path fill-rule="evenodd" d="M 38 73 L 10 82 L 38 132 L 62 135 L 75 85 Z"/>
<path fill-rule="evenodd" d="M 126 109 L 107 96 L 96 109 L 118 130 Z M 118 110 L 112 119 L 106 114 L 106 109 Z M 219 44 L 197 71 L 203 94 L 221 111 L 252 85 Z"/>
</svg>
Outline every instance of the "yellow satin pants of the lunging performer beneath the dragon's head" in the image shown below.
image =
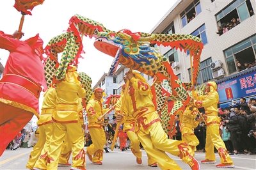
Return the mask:
<svg viewBox="0 0 256 170">
<path fill-rule="evenodd" d="M 180 157 L 185 163 L 192 158 L 190 155 L 193 153 L 188 144 L 184 141 L 168 139 L 159 121 L 150 125 L 146 130 L 141 127 L 138 137 L 145 151 L 156 160 L 161 169 L 181 169 L 165 151 Z"/>
</svg>

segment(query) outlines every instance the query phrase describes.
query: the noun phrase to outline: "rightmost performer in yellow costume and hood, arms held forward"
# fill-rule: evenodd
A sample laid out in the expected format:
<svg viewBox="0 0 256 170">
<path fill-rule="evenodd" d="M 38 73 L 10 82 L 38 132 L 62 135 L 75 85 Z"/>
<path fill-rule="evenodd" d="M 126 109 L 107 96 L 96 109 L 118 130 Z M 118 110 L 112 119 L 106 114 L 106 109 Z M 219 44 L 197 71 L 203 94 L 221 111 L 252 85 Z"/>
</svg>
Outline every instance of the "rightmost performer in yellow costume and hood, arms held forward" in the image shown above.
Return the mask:
<svg viewBox="0 0 256 170">
<path fill-rule="evenodd" d="M 202 164 L 214 164 L 215 154 L 214 146 L 218 150 L 220 155 L 221 164 L 216 167 L 234 167 L 232 159 L 228 155 L 228 151 L 225 148 L 225 144 L 220 137 L 219 127 L 220 118 L 218 117 L 218 102 L 219 94 L 217 92 L 216 82 L 208 82 L 206 86 L 207 95 L 193 94 L 194 105 L 196 107 L 204 107 L 205 109 L 205 123 L 206 123 L 206 143 L 205 143 L 205 160 L 202 160 Z"/>
</svg>

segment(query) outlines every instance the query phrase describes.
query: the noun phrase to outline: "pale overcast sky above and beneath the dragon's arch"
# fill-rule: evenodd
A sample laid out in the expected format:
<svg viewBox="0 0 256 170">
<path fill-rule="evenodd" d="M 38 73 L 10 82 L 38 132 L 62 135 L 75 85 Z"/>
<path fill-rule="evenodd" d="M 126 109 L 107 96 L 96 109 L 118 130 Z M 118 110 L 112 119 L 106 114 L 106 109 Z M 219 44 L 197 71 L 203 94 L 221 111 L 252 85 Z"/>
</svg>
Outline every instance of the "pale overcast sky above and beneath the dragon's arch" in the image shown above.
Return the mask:
<svg viewBox="0 0 256 170">
<path fill-rule="evenodd" d="M 149 31 L 173 6 L 175 0 L 45 0 L 44 4 L 35 6 L 32 16 L 26 15 L 22 32 L 26 40 L 39 33 L 44 40 L 44 47 L 54 36 L 67 30 L 68 20 L 75 14 L 100 22 L 107 29 L 119 31 L 130 29 L 132 32 Z M 0 1 L 0 30 L 12 34 L 19 29 L 20 17 L 13 4 L 15 0 Z M 93 46 L 94 38 L 83 38 L 84 59 L 79 59 L 79 72 L 92 77 L 92 86 L 111 66 L 113 58 L 99 52 Z M 5 65 L 9 52 L 0 49 L 0 58 Z"/>
</svg>

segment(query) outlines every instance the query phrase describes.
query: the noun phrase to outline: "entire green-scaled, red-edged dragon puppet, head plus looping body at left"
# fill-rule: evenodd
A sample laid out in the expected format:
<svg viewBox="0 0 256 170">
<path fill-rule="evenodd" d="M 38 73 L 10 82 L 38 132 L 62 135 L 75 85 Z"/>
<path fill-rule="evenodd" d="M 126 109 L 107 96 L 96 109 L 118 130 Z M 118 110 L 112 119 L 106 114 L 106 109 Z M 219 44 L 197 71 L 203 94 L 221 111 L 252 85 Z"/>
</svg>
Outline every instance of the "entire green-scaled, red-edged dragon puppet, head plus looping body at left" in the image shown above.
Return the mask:
<svg viewBox="0 0 256 170">
<path fill-rule="evenodd" d="M 191 82 L 181 82 L 173 73 L 172 67 L 166 57 L 159 53 L 159 51 L 150 44 L 170 46 L 172 48 L 189 50 L 193 56 L 193 82 L 195 82 L 200 66 L 200 54 L 204 47 L 200 38 L 191 35 L 169 35 L 169 34 L 148 34 L 148 33 L 132 33 L 124 29 L 122 31 L 111 31 L 106 29 L 102 24 L 94 20 L 88 19 L 81 15 L 74 15 L 70 19 L 70 27 L 68 29 L 69 35 L 61 35 L 58 40 L 49 42 L 51 48 L 48 49 L 48 54 L 51 56 L 48 66 L 51 74 L 56 80 L 61 80 L 65 75 L 65 70 L 70 64 L 76 64 L 81 52 L 83 52 L 83 45 L 81 43 L 80 35 L 88 36 L 95 39 L 95 48 L 112 56 L 113 64 L 109 70 L 109 75 L 115 73 L 118 64 L 124 65 L 127 68 L 138 70 L 157 79 L 154 84 L 154 92 L 156 93 L 157 111 L 161 114 L 162 126 L 165 132 L 170 132 L 170 118 L 179 110 L 183 110 L 190 102 L 188 89 Z M 67 40 L 65 37 L 70 37 L 71 43 L 61 43 Z M 56 59 L 54 59 L 54 52 L 65 52 L 65 47 L 72 45 L 72 53 L 68 53 L 63 57 L 59 66 Z M 67 47 L 68 48 L 68 47 Z M 70 49 L 70 47 L 69 47 Z M 70 55 L 71 58 L 70 58 Z M 62 59 L 62 58 L 61 58 Z M 55 66 L 56 68 L 52 68 Z M 49 71 L 48 70 L 48 71 Z M 52 81 L 52 77 L 49 76 Z M 51 82 L 49 81 L 49 82 Z M 159 83 L 160 82 L 160 83 Z M 172 111 L 168 113 L 167 100 L 173 100 L 174 105 Z"/>
</svg>

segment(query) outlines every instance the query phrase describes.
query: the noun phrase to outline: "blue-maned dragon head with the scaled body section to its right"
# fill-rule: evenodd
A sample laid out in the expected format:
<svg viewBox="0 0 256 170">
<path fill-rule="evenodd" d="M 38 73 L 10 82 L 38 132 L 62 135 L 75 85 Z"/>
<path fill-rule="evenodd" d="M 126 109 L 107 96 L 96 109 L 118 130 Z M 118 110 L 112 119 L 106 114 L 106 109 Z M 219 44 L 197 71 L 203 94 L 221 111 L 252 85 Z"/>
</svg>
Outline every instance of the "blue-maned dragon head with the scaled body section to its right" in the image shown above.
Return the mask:
<svg viewBox="0 0 256 170">
<path fill-rule="evenodd" d="M 150 75 L 161 82 L 154 87 L 157 97 L 157 111 L 161 112 L 162 127 L 168 133 L 172 129 L 174 115 L 183 111 L 191 97 L 188 89 L 191 82 L 181 82 L 173 73 L 168 59 L 151 43 L 189 50 L 193 56 L 193 81 L 196 81 L 200 66 L 200 54 L 204 47 L 200 38 L 191 35 L 132 33 L 124 29 L 116 33 L 99 32 L 95 40 L 96 49 L 114 59 L 109 75 L 115 73 L 118 64 Z M 172 111 L 167 112 L 166 100 L 174 102 Z"/>
</svg>

